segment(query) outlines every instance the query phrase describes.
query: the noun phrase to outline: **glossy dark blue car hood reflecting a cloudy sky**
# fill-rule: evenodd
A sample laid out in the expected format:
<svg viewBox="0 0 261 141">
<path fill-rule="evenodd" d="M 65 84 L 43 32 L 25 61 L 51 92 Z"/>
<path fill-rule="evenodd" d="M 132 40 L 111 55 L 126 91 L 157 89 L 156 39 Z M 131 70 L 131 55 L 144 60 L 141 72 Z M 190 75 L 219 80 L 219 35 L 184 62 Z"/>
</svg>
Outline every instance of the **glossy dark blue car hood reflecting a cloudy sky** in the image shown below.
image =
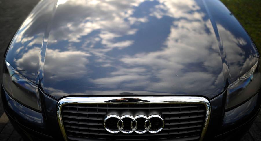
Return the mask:
<svg viewBox="0 0 261 141">
<path fill-rule="evenodd" d="M 46 94 L 200 95 L 247 72 L 258 52 L 219 0 L 40 1 L 6 60 Z"/>
</svg>

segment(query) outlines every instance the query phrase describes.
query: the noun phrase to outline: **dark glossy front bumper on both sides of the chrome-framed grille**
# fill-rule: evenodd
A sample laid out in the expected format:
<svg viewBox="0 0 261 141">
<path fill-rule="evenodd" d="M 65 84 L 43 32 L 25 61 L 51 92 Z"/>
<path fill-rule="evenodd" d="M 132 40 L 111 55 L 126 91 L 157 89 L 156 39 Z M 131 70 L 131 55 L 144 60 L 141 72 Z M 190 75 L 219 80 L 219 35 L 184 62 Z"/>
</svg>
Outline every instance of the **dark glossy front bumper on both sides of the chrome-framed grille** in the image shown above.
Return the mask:
<svg viewBox="0 0 261 141">
<path fill-rule="evenodd" d="M 44 109 L 40 113 L 12 99 L 3 88 L 1 90 L 5 112 L 25 140 L 63 140 L 56 115 L 58 101 L 41 93 Z M 247 131 L 260 110 L 260 92 L 230 111 L 224 110 L 225 93 L 210 100 L 211 117 L 204 140 L 235 139 L 238 133 L 242 135 L 241 132 Z"/>
</svg>

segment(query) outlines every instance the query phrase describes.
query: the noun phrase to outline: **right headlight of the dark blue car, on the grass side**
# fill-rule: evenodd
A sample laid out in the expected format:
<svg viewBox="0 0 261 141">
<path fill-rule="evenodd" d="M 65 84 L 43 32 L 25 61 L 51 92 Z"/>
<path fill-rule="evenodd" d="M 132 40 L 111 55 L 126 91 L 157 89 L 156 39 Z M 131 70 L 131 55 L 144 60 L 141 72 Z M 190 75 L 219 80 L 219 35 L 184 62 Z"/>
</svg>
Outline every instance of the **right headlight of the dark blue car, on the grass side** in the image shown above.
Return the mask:
<svg viewBox="0 0 261 141">
<path fill-rule="evenodd" d="M 257 66 L 258 62 L 247 73 L 227 87 L 226 110 L 242 104 L 258 92 L 261 77 L 257 71 Z"/>
</svg>

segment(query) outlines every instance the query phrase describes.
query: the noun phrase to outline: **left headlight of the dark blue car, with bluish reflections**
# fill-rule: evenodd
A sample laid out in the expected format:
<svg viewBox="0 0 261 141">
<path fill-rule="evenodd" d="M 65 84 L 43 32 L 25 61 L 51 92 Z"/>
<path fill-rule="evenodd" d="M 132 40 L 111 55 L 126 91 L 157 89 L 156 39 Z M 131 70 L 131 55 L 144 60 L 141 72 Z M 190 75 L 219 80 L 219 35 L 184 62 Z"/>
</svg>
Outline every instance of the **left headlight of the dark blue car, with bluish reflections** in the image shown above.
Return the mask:
<svg viewBox="0 0 261 141">
<path fill-rule="evenodd" d="M 3 87 L 5 91 L 16 101 L 41 111 L 38 86 L 23 77 L 7 61 L 3 73 Z"/>
</svg>

